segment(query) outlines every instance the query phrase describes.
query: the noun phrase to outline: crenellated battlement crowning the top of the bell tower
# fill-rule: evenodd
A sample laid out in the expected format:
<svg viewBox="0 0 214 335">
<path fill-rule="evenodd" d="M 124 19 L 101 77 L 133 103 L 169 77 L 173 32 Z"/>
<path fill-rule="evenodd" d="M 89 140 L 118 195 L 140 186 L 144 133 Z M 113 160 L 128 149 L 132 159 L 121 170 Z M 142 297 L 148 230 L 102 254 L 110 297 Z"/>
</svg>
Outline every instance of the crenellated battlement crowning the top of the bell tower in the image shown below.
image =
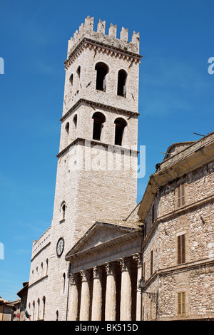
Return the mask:
<svg viewBox="0 0 214 335">
<path fill-rule="evenodd" d="M 117 26 L 111 24 L 106 34 L 106 21 L 98 21 L 97 30 L 93 30 L 93 17 L 87 16 L 84 24 L 81 24 L 75 31 L 73 37 L 68 41 L 68 56 L 76 48 L 83 38 L 90 38 L 93 41 L 106 43 L 115 48 L 121 48 L 123 51 L 139 53 L 140 33 L 133 31 L 131 41 L 128 42 L 128 29 L 122 27 L 120 38 L 117 38 Z"/>
</svg>

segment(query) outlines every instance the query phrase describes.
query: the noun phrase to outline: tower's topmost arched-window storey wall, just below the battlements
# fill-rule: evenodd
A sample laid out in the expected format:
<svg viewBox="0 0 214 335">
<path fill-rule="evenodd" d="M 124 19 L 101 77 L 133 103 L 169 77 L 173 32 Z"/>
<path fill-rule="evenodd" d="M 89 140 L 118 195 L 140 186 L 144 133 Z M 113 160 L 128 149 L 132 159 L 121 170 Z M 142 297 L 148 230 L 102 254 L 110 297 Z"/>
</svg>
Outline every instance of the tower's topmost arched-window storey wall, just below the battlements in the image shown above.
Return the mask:
<svg viewBox="0 0 214 335">
<path fill-rule="evenodd" d="M 95 66 L 98 62 L 108 66 L 106 91 L 96 90 Z M 114 53 L 109 56 L 105 51 L 97 52 L 95 47 L 85 46 L 78 58 L 66 70 L 63 115 L 81 98 L 138 113 L 139 63 L 140 61 L 133 60 L 131 57 L 119 57 Z M 81 67 L 80 76 L 77 73 L 78 66 Z M 128 74 L 126 98 L 117 95 L 118 71 L 121 69 Z M 73 74 L 73 84 L 70 81 L 71 74 Z"/>
</svg>

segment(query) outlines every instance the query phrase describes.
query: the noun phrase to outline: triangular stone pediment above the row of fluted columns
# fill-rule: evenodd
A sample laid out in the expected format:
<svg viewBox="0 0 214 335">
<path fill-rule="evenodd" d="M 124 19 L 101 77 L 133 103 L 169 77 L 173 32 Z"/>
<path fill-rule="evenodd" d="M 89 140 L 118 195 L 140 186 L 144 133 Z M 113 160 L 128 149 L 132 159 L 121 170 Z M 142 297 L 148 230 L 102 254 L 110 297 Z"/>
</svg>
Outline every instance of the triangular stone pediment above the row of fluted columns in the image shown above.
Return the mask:
<svg viewBox="0 0 214 335">
<path fill-rule="evenodd" d="M 106 244 L 133 231 L 136 231 L 136 227 L 113 225 L 108 222 L 96 222 L 66 254 L 66 259 L 73 254 Z"/>
</svg>

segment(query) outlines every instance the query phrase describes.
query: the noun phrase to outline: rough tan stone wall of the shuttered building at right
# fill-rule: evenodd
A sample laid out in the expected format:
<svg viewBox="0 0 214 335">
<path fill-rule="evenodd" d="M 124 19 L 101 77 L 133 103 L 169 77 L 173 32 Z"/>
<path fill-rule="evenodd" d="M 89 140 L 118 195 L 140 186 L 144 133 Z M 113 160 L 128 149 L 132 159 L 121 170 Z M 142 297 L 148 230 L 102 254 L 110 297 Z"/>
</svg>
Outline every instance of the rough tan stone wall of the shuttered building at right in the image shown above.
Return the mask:
<svg viewBox="0 0 214 335">
<path fill-rule="evenodd" d="M 213 310 L 214 229 L 213 163 L 204 165 L 166 185 L 156 196 L 158 224 L 148 239 L 146 262 L 147 291 L 158 278 L 159 319 L 209 318 Z M 185 185 L 185 205 L 178 207 L 177 188 Z M 152 227 L 148 213 L 147 234 Z M 178 235 L 185 234 L 185 263 L 178 264 Z M 151 250 L 154 272 L 150 273 Z M 178 292 L 185 292 L 185 316 L 178 316 Z M 145 304 L 148 314 L 149 301 Z M 155 306 L 153 306 L 155 308 Z"/>
</svg>

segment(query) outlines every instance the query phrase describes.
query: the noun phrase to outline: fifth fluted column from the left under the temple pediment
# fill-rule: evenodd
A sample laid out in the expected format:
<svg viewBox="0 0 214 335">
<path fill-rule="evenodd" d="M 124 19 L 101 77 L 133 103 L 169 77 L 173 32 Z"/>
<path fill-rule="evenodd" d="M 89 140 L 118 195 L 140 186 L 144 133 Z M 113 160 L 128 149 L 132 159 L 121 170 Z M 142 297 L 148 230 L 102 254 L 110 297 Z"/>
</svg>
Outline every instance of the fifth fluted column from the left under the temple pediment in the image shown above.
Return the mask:
<svg viewBox="0 0 214 335">
<path fill-rule="evenodd" d="M 119 259 L 121 264 L 121 321 L 131 321 L 131 267 L 129 259 Z"/>
</svg>

